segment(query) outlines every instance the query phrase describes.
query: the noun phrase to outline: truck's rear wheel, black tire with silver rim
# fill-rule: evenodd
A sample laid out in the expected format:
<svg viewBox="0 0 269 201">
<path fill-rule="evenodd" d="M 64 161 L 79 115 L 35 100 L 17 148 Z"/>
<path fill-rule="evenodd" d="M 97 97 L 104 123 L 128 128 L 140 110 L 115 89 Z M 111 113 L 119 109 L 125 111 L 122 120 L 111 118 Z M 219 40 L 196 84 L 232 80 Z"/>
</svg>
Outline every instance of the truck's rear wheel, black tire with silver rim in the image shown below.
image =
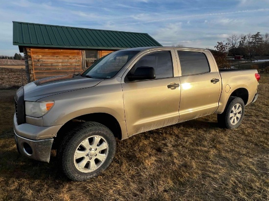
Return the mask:
<svg viewBox="0 0 269 201">
<path fill-rule="evenodd" d="M 239 97 L 231 96 L 228 99 L 224 112 L 218 114 L 218 124 L 220 127 L 234 129 L 240 126 L 245 114 L 245 103 Z"/>
</svg>

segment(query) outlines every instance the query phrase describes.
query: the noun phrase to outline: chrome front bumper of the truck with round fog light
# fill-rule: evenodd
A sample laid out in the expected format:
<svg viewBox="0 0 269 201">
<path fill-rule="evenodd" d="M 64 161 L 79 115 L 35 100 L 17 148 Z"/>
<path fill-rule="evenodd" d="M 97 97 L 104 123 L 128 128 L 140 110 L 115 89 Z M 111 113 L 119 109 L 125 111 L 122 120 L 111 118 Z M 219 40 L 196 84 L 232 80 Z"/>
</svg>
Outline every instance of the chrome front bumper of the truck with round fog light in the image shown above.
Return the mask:
<svg viewBox="0 0 269 201">
<path fill-rule="evenodd" d="M 22 155 L 37 161 L 49 162 L 53 139 L 33 141 L 15 133 L 17 150 Z"/>
</svg>

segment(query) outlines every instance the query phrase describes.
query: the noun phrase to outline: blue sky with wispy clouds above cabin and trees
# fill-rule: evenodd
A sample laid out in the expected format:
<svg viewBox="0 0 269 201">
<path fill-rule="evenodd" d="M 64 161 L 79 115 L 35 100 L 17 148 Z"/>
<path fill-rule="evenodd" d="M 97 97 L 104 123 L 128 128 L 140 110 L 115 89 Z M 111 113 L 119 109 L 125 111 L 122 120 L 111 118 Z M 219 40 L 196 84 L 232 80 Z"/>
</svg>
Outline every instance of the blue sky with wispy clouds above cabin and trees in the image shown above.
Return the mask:
<svg viewBox="0 0 269 201">
<path fill-rule="evenodd" d="M 232 34 L 269 33 L 269 0 L 0 0 L 0 55 L 12 21 L 148 33 L 163 46 L 214 49 Z"/>
</svg>

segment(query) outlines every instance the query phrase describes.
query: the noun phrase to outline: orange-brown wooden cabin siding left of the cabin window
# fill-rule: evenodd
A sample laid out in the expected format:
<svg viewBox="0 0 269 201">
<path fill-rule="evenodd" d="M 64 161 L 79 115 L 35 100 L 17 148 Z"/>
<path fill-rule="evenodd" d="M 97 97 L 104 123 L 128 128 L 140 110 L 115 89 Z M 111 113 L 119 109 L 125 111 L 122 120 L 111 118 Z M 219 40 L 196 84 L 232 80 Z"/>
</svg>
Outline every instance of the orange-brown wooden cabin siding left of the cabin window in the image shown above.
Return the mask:
<svg viewBox="0 0 269 201">
<path fill-rule="evenodd" d="M 83 70 L 81 50 L 31 48 L 27 53 L 31 56 L 28 62 L 33 66 L 34 80 Z"/>
</svg>

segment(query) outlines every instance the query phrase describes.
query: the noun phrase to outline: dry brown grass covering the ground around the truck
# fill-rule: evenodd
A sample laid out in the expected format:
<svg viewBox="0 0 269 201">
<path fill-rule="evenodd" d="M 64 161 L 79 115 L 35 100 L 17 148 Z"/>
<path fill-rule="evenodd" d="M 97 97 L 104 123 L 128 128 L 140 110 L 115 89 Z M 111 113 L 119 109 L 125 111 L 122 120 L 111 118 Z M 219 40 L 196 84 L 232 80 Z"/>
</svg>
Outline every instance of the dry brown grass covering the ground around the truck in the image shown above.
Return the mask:
<svg viewBox="0 0 269 201">
<path fill-rule="evenodd" d="M 269 75 L 235 130 L 216 115 L 117 141 L 110 167 L 85 182 L 68 181 L 50 163 L 17 153 L 15 90 L 0 91 L 0 200 L 269 200 Z"/>
</svg>

